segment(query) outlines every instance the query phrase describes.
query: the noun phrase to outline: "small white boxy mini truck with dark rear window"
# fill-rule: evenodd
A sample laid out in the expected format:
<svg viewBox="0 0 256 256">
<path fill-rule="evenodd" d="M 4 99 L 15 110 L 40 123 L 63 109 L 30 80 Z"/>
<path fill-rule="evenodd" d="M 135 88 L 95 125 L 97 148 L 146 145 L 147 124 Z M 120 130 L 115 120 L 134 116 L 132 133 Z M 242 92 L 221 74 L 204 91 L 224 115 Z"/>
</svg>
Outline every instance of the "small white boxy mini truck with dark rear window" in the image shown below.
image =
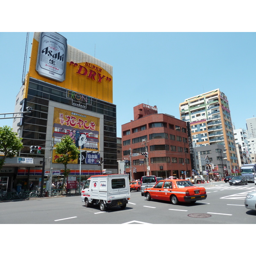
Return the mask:
<svg viewBox="0 0 256 256">
<path fill-rule="evenodd" d="M 130 200 L 130 185 L 128 174 L 94 175 L 86 180 L 81 192 L 81 201 L 85 207 L 99 204 L 99 209 L 105 211 L 111 207 L 122 209 Z"/>
</svg>

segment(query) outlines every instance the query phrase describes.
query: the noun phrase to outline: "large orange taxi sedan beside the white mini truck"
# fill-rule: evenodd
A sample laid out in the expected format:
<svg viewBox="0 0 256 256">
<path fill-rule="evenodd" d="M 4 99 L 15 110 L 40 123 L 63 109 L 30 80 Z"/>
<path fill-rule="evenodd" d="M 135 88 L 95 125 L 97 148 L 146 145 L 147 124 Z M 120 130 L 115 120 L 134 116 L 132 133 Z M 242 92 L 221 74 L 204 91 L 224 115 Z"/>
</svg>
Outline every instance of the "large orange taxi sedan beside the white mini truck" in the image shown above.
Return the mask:
<svg viewBox="0 0 256 256">
<path fill-rule="evenodd" d="M 172 204 L 195 203 L 207 198 L 205 188 L 194 186 L 189 180 L 160 180 L 152 188 L 146 188 L 144 196 L 148 201 L 158 199 L 171 201 Z"/>
</svg>

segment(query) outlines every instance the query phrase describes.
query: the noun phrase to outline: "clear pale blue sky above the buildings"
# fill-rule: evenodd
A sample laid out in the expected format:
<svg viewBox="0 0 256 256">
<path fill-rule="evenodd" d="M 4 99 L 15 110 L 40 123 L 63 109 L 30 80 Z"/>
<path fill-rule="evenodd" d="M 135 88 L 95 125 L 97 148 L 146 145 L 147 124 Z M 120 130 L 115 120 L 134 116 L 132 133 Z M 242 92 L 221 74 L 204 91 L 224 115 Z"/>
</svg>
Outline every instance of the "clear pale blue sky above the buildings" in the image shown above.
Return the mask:
<svg viewBox="0 0 256 256">
<path fill-rule="evenodd" d="M 232 122 L 256 116 L 256 34 L 253 32 L 59 32 L 68 44 L 113 66 L 117 137 L 133 107 L 156 105 L 180 119 L 179 103 L 219 88 Z M 33 33 L 29 33 L 26 73 Z M 14 112 L 21 87 L 26 32 L 0 32 L 0 113 Z M 1 115 L 0 117 L 3 117 Z M 13 119 L 0 119 L 12 126 Z"/>
</svg>

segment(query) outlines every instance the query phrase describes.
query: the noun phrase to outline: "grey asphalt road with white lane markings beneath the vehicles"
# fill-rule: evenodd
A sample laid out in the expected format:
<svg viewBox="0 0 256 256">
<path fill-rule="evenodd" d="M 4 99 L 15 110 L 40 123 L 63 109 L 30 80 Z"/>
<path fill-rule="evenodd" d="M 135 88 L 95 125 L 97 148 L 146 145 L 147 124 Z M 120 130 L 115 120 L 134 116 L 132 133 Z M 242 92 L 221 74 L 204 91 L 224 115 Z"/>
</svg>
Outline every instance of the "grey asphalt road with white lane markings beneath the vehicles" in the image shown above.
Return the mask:
<svg viewBox="0 0 256 256">
<path fill-rule="evenodd" d="M 86 208 L 80 196 L 35 198 L 0 203 L 0 224 L 255 224 L 256 211 L 244 207 L 244 198 L 256 190 L 254 183 L 230 186 L 216 182 L 200 184 L 207 199 L 195 204 L 173 205 L 147 201 L 132 191 L 125 209 L 101 212 L 99 206 Z"/>
</svg>

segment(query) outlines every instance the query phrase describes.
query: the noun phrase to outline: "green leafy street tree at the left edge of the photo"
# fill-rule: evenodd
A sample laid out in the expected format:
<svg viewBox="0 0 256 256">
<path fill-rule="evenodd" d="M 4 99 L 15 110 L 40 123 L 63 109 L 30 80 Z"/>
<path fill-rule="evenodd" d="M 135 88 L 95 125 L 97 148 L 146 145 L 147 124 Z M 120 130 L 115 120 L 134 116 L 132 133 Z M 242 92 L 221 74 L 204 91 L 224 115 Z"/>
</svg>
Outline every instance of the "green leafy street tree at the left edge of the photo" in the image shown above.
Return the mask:
<svg viewBox="0 0 256 256">
<path fill-rule="evenodd" d="M 23 148 L 22 138 L 18 137 L 17 132 L 12 131 L 10 126 L 0 127 L 0 151 L 3 152 L 3 158 L 0 159 L 0 169 L 2 169 L 7 157 L 17 156 Z"/>
</svg>

